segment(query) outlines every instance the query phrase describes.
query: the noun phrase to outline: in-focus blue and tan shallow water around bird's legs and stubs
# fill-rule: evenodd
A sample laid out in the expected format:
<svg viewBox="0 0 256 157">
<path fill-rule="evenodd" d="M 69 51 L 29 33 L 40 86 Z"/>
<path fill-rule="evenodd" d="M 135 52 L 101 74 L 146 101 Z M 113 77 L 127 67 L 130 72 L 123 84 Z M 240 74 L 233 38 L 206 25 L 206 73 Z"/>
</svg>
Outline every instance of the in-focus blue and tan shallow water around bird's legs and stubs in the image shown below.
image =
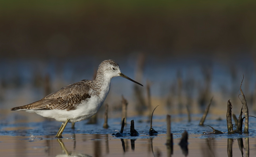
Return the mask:
<svg viewBox="0 0 256 157">
<path fill-rule="evenodd" d="M 232 145 L 233 156 L 256 156 L 256 120 L 250 118 L 249 134 L 210 134 L 212 129 L 197 126 L 198 117 L 193 114 L 192 122 L 187 121 L 185 114 L 172 115 L 171 132 L 174 146 L 172 156 L 191 157 L 228 156 L 228 141 Z M 205 124 L 221 132 L 227 132 L 226 119 L 216 120 L 217 115 L 208 115 Z M 0 156 L 170 156 L 166 143 L 166 115 L 154 115 L 153 128 L 158 135 L 149 136 L 150 124 L 147 116 L 127 118 L 124 133 L 130 132 L 130 121 L 134 120 L 139 136 L 112 136 L 120 130 L 119 118 L 110 118 L 110 127 L 104 129 L 103 119 L 97 124 L 86 124 L 87 120 L 77 122 L 75 129 L 68 124 L 63 139 L 55 139 L 60 122 L 42 119 L 41 116 L 26 112 L 10 112 L 1 117 L 0 124 Z M 189 134 L 188 152 L 178 145 L 182 133 Z M 31 135 L 32 136 L 31 136 Z M 33 137 L 34 136 L 34 137 Z M 32 137 L 32 138 L 31 138 Z M 233 139 L 233 141 L 232 141 Z M 231 143 L 230 143 L 231 142 Z M 243 143 L 242 151 L 238 143 Z M 249 147 L 248 147 L 249 145 Z M 240 144 L 241 146 L 241 144 Z M 230 146 L 229 146 L 230 147 Z M 153 148 L 153 151 L 152 151 Z M 249 148 L 249 149 L 248 149 Z"/>
</svg>

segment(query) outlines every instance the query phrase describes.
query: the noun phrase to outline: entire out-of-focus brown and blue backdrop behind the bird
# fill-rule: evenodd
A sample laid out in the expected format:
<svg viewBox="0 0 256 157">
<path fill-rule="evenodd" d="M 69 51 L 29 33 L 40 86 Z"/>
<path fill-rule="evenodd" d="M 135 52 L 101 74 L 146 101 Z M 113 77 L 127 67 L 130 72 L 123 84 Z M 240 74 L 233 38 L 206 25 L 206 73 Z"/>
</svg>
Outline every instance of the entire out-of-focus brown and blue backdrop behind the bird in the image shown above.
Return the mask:
<svg viewBox="0 0 256 157">
<path fill-rule="evenodd" d="M 249 0 L 1 1 L 0 103 L 31 103 L 92 79 L 101 61 L 114 59 L 127 76 L 150 82 L 152 106 L 186 110 L 212 96 L 213 104 L 239 104 L 242 74 L 253 105 L 255 8 Z M 146 88 L 136 98 L 134 84 L 114 79 L 106 102 L 120 104 L 122 94 L 147 102 Z"/>
</svg>

